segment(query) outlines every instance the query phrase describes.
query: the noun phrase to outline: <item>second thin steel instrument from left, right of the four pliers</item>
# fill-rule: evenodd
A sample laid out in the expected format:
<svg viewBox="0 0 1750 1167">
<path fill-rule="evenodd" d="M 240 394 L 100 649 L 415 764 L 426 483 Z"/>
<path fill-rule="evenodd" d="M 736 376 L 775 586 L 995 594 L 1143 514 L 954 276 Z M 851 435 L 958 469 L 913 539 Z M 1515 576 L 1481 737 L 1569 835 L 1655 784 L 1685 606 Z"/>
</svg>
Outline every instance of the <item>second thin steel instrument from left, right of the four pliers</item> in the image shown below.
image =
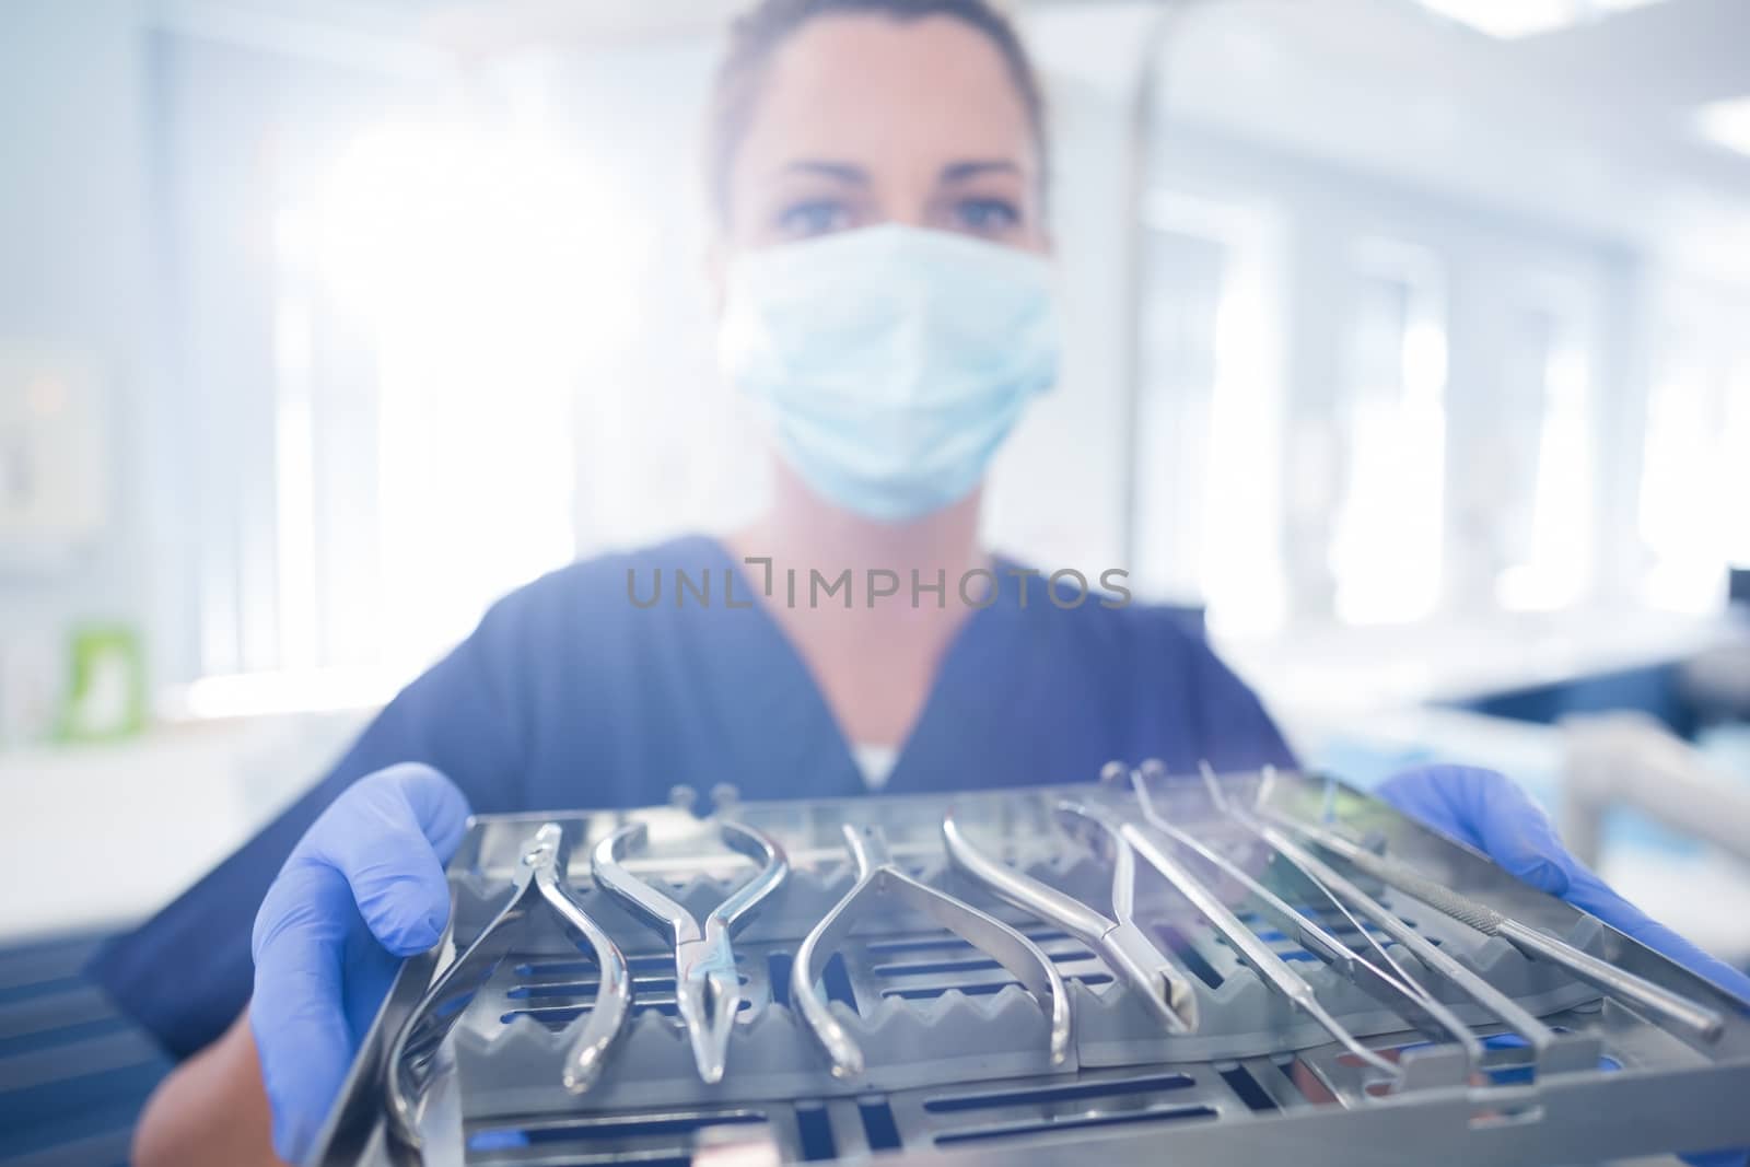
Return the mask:
<svg viewBox="0 0 1750 1167">
<path fill-rule="evenodd" d="M 1218 871 L 1241 884 L 1307 952 L 1320 955 L 1328 964 L 1340 969 L 1356 985 L 1372 992 L 1381 1003 L 1398 1013 L 1404 1013 L 1407 1020 L 1428 1036 L 1437 1039 L 1449 1038 L 1456 1041 L 1465 1048 L 1466 1055 L 1474 1062 L 1482 1057 L 1482 1043 L 1470 1032 L 1470 1027 L 1465 1025 L 1465 1022 L 1452 1013 L 1452 1010 L 1430 994 L 1414 976 L 1410 976 L 1404 966 L 1396 962 L 1391 952 L 1379 943 L 1374 933 L 1363 927 L 1362 922 L 1354 919 L 1354 913 L 1340 899 L 1332 896 L 1328 889 L 1314 880 L 1306 880 L 1307 887 L 1314 894 L 1326 899 L 1349 922 L 1351 929 L 1365 945 L 1368 945 L 1368 948 L 1374 950 L 1384 968 L 1342 943 L 1325 926 L 1260 884 L 1250 871 L 1228 859 L 1225 854 L 1190 831 L 1178 828 L 1166 815 L 1162 815 L 1155 807 L 1153 796 L 1148 793 L 1150 777 L 1166 777 L 1166 766 L 1158 761 L 1144 761 L 1136 770 L 1125 768 L 1124 763 L 1110 763 L 1101 773 L 1101 782 L 1110 784 L 1125 777 L 1129 777 L 1130 789 L 1136 793 L 1138 807 L 1141 807 L 1143 819 L 1150 828 L 1160 831 L 1180 847 L 1197 854 Z"/>
</svg>

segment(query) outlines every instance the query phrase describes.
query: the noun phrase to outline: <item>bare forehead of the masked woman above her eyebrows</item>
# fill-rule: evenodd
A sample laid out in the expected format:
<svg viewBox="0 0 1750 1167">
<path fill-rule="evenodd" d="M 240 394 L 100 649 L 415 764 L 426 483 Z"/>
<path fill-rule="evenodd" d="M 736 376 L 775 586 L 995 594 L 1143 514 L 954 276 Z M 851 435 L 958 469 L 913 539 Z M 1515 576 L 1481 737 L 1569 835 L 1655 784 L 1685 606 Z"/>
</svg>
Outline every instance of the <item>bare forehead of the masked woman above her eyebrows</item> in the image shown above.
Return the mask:
<svg viewBox="0 0 1750 1167">
<path fill-rule="evenodd" d="M 1004 157 L 1031 171 L 1032 154 L 1027 108 L 984 31 L 950 16 L 826 16 L 774 52 L 735 170 Z"/>
</svg>

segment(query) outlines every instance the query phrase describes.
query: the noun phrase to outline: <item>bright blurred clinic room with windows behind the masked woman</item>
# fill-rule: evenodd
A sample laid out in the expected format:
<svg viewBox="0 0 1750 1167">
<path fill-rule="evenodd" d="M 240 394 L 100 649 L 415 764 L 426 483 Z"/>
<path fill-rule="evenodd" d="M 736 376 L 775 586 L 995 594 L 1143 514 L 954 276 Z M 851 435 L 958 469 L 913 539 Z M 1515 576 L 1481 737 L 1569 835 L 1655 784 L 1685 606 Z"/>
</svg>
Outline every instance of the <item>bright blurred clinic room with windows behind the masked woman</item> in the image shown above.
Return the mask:
<svg viewBox="0 0 1750 1167">
<path fill-rule="evenodd" d="M 0 5 L 0 1125 L 40 1162 L 86 1160 L 21 1083 L 161 1071 L 77 938 L 500 593 L 758 506 L 696 180 L 732 9 Z M 990 542 L 1204 605 L 1316 766 L 1517 777 L 1750 961 L 1750 3 L 1018 14 L 1069 367 Z"/>
</svg>

